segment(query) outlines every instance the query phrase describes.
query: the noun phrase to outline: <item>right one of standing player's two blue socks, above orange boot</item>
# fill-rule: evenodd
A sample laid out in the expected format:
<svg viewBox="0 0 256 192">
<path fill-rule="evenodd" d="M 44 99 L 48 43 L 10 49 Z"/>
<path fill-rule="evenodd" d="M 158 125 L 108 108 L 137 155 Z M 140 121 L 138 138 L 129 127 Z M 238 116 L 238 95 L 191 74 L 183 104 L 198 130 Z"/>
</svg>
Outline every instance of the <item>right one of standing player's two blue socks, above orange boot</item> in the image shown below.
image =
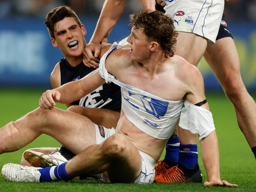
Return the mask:
<svg viewBox="0 0 256 192">
<path fill-rule="evenodd" d="M 196 144 L 179 146 L 179 164 L 187 169 L 196 168 L 196 164 L 198 164 L 198 152 Z"/>
</svg>

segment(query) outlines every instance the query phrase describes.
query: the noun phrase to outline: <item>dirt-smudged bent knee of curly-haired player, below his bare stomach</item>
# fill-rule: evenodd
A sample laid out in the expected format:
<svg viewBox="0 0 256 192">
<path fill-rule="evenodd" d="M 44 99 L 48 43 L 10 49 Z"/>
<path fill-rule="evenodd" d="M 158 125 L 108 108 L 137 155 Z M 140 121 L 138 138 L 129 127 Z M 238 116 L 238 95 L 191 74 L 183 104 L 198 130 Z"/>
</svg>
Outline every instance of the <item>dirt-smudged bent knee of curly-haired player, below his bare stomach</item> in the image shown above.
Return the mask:
<svg viewBox="0 0 256 192">
<path fill-rule="evenodd" d="M 102 151 L 105 155 L 121 154 L 127 150 L 127 138 L 122 134 L 114 134 L 108 138 L 102 145 Z"/>
</svg>

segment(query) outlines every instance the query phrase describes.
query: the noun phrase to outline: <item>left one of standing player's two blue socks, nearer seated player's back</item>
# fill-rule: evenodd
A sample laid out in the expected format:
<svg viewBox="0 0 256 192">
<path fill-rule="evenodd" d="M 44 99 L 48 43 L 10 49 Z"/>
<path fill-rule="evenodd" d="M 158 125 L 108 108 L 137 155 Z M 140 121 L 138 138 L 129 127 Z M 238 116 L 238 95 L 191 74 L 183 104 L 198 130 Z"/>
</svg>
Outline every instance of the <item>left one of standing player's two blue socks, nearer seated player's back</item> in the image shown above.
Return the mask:
<svg viewBox="0 0 256 192">
<path fill-rule="evenodd" d="M 164 159 L 169 162 L 178 163 L 179 161 L 179 137 L 170 137 L 165 145 L 166 153 Z"/>
</svg>

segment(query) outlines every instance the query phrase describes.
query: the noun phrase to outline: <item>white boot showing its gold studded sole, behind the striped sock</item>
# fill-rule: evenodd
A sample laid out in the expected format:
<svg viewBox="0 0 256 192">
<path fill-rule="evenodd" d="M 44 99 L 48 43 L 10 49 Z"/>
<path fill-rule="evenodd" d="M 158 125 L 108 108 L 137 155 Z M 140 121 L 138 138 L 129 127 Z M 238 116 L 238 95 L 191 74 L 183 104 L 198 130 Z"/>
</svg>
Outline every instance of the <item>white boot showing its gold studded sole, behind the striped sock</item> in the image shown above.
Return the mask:
<svg viewBox="0 0 256 192">
<path fill-rule="evenodd" d="M 67 162 L 67 159 L 63 157 L 60 152 L 49 153 L 45 155 L 37 151 L 28 150 L 24 152 L 24 158 L 34 167 L 52 167 L 58 166 L 64 162 Z"/>
</svg>

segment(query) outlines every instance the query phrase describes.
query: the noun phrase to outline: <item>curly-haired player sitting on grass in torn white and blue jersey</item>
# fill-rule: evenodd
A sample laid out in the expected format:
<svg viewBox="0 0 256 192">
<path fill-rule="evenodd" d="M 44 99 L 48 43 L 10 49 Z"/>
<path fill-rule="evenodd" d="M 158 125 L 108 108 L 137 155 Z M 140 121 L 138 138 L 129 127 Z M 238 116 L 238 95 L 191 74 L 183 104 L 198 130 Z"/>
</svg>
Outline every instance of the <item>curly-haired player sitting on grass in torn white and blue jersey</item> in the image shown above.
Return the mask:
<svg viewBox="0 0 256 192">
<path fill-rule="evenodd" d="M 73 23 L 73 18 L 65 17 L 55 25 L 54 33 Z M 45 182 L 100 173 L 108 183 L 152 183 L 155 161 L 179 121 L 188 131 L 200 135 L 209 183 L 237 186 L 220 180 L 217 136 L 204 102 L 202 75 L 174 55 L 176 32 L 172 19 L 159 11 L 140 11 L 130 16 L 129 26 L 127 39 L 102 46 L 98 70 L 47 90 L 39 100 L 40 108 L 0 129 L 0 153 L 15 151 L 45 133 L 78 155 L 44 169 L 6 164 L 2 168 L 6 180 Z M 121 87 L 121 116 L 116 129 L 102 127 L 99 131 L 90 119 L 55 108 L 55 102 L 71 103 L 105 82 Z M 180 138 L 190 142 L 190 135 L 182 134 Z"/>
</svg>

